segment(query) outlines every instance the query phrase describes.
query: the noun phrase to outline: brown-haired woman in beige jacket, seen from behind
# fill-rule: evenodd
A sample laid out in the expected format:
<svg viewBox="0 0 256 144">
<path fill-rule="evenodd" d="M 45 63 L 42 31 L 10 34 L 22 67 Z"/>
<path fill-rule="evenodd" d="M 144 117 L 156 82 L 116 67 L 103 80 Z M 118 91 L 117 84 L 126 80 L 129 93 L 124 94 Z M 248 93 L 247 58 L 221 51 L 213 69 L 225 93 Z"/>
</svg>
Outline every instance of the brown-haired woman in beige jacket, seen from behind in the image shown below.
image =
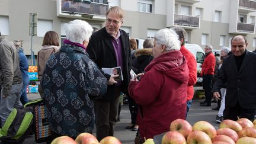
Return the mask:
<svg viewBox="0 0 256 144">
<path fill-rule="evenodd" d="M 47 31 L 47 33 L 44 35 L 42 46 L 42 49 L 37 53 L 37 71 L 39 76 L 38 81 L 41 81 L 44 72 L 44 66 L 46 65 L 49 57 L 53 55 L 53 53 L 59 52 L 58 34 L 55 31 Z M 44 92 L 41 88 L 41 85 L 39 85 L 38 91 L 41 98 L 43 99 Z"/>
</svg>

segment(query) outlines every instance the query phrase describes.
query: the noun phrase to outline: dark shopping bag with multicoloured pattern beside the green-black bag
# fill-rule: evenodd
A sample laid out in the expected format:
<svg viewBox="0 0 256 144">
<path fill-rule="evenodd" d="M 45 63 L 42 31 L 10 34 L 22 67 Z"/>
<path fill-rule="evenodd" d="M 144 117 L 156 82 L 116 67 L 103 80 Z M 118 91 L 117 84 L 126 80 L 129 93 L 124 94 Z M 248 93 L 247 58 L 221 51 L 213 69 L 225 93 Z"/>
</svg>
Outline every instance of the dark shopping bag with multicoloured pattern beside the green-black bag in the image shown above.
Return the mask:
<svg viewBox="0 0 256 144">
<path fill-rule="evenodd" d="M 33 104 L 33 111 L 35 141 L 37 143 L 48 142 L 51 140 L 51 129 L 47 118 L 46 105 L 43 100 L 38 100 Z"/>
</svg>

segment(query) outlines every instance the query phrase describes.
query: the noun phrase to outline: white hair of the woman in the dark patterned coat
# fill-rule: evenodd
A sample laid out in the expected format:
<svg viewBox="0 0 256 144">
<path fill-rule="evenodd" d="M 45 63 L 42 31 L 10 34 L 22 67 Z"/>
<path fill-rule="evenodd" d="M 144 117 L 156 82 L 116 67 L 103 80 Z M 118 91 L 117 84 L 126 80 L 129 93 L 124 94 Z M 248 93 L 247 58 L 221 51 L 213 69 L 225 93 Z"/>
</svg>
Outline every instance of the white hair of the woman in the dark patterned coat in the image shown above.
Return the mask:
<svg viewBox="0 0 256 144">
<path fill-rule="evenodd" d="M 89 23 L 82 20 L 73 20 L 64 25 L 66 29 L 66 39 L 74 43 L 83 43 L 89 41 L 93 28 Z"/>
</svg>

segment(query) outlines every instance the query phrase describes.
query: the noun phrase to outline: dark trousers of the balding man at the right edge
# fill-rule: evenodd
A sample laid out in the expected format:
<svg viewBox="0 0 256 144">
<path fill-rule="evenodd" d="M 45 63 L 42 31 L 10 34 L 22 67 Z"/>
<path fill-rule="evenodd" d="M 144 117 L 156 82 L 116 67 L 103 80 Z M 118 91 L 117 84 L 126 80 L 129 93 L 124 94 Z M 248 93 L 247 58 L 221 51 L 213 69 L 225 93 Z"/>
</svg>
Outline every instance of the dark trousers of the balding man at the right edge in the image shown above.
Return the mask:
<svg viewBox="0 0 256 144">
<path fill-rule="evenodd" d="M 226 100 L 227 101 L 227 100 Z M 247 118 L 251 121 L 254 121 L 255 116 L 255 109 L 244 109 L 241 105 L 236 103 L 234 107 L 229 107 L 225 104 L 225 110 L 223 111 L 223 119 L 230 119 L 230 120 L 238 120 L 240 118 Z"/>
</svg>

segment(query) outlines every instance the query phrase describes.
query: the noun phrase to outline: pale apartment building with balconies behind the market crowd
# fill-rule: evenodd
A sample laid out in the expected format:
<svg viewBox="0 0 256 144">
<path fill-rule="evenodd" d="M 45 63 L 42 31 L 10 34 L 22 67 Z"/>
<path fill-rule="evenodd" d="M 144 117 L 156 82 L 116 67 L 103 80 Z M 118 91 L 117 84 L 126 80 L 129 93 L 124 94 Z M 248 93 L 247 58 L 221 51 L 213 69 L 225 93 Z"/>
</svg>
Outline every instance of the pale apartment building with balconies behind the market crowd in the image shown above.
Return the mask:
<svg viewBox="0 0 256 144">
<path fill-rule="evenodd" d="M 220 49 L 230 47 L 231 38 L 242 34 L 249 50 L 256 47 L 256 0 L 0 0 L 0 31 L 8 40 L 23 39 L 26 55 L 31 47 L 36 54 L 46 31 L 56 31 L 63 40 L 63 24 L 75 19 L 102 28 L 105 12 L 116 5 L 124 9 L 121 28 L 130 37 L 146 39 L 161 28 L 180 25 L 188 33 L 187 43 Z M 37 13 L 33 37 L 30 13 Z"/>
</svg>

